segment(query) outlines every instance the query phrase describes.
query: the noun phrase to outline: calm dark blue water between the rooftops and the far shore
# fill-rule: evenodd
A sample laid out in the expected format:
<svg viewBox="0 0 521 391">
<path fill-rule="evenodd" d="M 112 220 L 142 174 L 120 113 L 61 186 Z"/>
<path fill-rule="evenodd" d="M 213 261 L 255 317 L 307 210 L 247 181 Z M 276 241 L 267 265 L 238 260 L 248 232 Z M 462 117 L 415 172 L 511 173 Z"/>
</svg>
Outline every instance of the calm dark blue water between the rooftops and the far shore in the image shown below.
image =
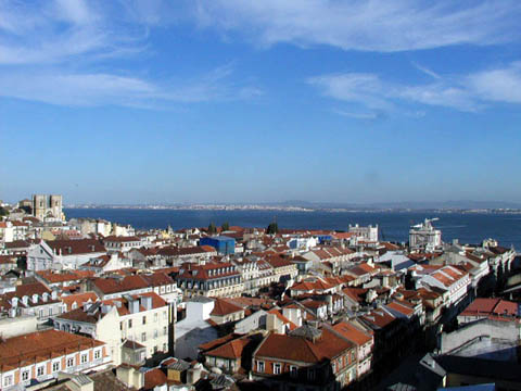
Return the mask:
<svg viewBox="0 0 521 391">
<path fill-rule="evenodd" d="M 207 227 L 209 222 L 243 227 L 267 227 L 277 218 L 280 228 L 312 228 L 347 230 L 350 224 L 378 224 L 380 236 L 390 241 L 407 241 L 409 227 L 425 217 L 440 217 L 434 223 L 442 230 L 442 238 L 454 238 L 463 243 L 478 243 L 485 238 L 495 238 L 504 247 L 513 244 L 521 249 L 521 215 L 461 214 L 418 212 L 281 212 L 281 211 L 173 211 L 125 209 L 66 209 L 72 217 L 104 218 L 119 224 L 130 224 L 138 229 Z"/>
</svg>

